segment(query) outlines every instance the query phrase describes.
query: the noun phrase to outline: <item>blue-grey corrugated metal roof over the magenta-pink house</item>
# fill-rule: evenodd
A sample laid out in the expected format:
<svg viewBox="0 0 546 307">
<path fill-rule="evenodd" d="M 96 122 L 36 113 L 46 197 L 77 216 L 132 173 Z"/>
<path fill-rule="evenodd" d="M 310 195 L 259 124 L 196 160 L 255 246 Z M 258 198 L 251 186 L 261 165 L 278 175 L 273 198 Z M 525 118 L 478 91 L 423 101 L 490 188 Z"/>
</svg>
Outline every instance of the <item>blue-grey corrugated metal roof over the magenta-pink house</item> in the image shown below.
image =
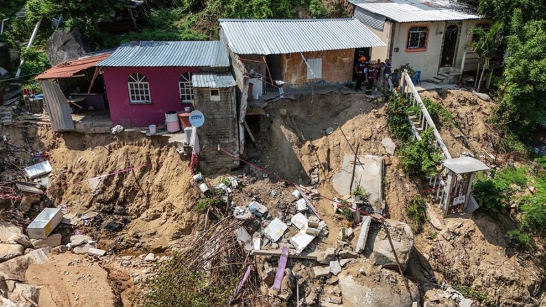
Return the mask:
<svg viewBox="0 0 546 307">
<path fill-rule="evenodd" d="M 229 67 L 220 41 L 131 42 L 117 47 L 102 67 Z"/>
</svg>

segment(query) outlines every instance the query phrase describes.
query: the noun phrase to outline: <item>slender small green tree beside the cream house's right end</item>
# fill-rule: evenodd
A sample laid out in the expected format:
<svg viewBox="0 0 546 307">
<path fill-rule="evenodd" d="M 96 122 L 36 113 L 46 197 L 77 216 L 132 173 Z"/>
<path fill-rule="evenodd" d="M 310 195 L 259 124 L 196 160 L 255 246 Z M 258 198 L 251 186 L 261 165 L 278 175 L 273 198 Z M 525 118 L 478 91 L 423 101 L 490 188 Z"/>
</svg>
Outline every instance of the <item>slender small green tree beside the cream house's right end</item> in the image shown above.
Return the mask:
<svg viewBox="0 0 546 307">
<path fill-rule="evenodd" d="M 484 29 L 484 27 L 473 27 L 470 29 L 469 35 L 477 37 L 477 39 L 470 41 L 468 45 L 473 52 L 478 54 L 478 71 L 480 62 L 484 61 L 481 76 L 479 80 L 476 78 L 476 91 L 479 91 L 479 86 L 481 81 L 484 80 L 486 69 L 489 69 L 489 62 L 494 56 L 494 52 L 497 52 L 503 43 L 503 30 L 504 25 L 500 22 L 493 23 L 489 29 Z"/>
</svg>

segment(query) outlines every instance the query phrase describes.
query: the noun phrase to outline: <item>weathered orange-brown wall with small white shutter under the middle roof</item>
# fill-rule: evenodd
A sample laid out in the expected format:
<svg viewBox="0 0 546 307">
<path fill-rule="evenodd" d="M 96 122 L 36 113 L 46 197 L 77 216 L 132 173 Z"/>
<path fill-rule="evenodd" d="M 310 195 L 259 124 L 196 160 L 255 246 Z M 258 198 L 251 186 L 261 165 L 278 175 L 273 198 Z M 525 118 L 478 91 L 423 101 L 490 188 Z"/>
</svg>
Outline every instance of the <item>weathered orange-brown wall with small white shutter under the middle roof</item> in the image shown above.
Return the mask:
<svg viewBox="0 0 546 307">
<path fill-rule="evenodd" d="M 322 76 L 307 80 L 307 65 L 299 53 L 282 55 L 283 80 L 288 86 L 325 80 L 339 82 L 352 80 L 354 49 L 341 49 L 323 52 L 304 52 L 304 57 L 322 58 Z"/>
</svg>

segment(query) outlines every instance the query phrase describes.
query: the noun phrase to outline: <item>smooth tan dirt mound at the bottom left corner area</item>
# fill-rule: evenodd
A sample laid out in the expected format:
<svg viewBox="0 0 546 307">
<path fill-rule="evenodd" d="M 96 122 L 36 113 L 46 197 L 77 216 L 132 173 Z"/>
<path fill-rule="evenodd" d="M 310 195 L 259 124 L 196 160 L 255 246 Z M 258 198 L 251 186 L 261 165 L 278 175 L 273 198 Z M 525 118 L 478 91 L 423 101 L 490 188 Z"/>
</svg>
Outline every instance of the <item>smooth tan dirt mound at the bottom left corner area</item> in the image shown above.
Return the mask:
<svg viewBox="0 0 546 307">
<path fill-rule="evenodd" d="M 53 255 L 26 273 L 30 284 L 43 286 L 40 307 L 112 307 L 116 297 L 108 273 L 97 262 L 73 253 Z"/>
</svg>

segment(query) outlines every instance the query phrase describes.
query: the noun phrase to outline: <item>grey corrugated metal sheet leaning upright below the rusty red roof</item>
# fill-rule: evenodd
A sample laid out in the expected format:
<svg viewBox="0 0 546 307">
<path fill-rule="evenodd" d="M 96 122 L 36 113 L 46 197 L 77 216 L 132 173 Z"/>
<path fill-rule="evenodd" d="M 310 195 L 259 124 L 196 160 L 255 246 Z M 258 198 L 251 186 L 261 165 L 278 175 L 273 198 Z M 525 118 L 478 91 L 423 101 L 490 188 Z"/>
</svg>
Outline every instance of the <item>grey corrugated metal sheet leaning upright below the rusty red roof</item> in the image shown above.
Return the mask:
<svg viewBox="0 0 546 307">
<path fill-rule="evenodd" d="M 62 93 L 59 84 L 52 80 L 41 80 L 42 91 L 49 118 L 52 120 L 54 131 L 74 130 L 72 109 Z"/>
</svg>

